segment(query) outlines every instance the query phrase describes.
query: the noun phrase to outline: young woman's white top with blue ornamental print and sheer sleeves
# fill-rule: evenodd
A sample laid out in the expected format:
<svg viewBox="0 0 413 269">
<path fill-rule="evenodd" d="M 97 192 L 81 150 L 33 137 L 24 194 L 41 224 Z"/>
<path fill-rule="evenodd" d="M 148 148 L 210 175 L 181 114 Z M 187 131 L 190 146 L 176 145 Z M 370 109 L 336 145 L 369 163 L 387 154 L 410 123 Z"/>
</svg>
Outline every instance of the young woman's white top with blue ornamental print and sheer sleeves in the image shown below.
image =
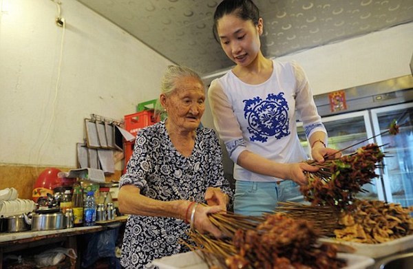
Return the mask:
<svg viewBox="0 0 413 269">
<path fill-rule="evenodd" d="M 235 163 L 235 180 L 281 180 L 237 165 L 244 150 L 280 163 L 306 160 L 297 136 L 297 116 L 307 138 L 315 131 L 327 133 L 306 74 L 295 62 L 273 61 L 273 74 L 258 85 L 246 84 L 229 71 L 212 81 L 208 97 L 215 128 Z"/>
</svg>

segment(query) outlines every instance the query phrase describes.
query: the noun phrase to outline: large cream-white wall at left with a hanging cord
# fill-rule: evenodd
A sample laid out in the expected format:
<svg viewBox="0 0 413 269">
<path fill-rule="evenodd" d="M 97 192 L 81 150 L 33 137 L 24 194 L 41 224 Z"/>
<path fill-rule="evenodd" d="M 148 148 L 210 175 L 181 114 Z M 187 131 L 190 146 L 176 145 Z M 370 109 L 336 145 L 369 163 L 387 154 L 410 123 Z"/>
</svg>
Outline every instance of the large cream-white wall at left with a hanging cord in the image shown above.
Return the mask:
<svg viewBox="0 0 413 269">
<path fill-rule="evenodd" d="M 158 97 L 171 64 L 81 3 L 62 2 L 64 36 L 53 1 L 0 0 L 0 163 L 76 166 L 83 119 L 134 113 Z"/>
</svg>

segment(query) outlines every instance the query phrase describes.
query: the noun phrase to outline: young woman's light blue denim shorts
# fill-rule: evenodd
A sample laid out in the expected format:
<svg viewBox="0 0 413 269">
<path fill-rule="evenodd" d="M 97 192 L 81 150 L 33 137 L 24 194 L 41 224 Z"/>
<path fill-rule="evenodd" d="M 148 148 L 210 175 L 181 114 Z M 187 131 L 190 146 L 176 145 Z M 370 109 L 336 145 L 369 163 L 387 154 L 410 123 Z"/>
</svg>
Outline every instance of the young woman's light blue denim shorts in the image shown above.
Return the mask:
<svg viewBox="0 0 413 269">
<path fill-rule="evenodd" d="M 299 185 L 292 180 L 276 182 L 235 181 L 234 212 L 246 216 L 273 213 L 278 202 L 304 202 Z"/>
</svg>

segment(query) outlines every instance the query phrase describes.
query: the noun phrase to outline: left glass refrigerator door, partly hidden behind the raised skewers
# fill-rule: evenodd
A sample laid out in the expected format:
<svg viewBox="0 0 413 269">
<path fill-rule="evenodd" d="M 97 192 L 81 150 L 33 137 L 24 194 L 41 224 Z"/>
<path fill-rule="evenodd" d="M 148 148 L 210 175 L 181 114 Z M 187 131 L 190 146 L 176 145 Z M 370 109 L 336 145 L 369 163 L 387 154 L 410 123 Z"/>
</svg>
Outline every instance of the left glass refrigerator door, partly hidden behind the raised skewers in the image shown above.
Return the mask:
<svg viewBox="0 0 413 269">
<path fill-rule="evenodd" d="M 374 143 L 373 139 L 364 141 L 373 136 L 368 110 L 327 116 L 323 117 L 322 121 L 328 133 L 328 147 L 338 150 L 344 149 L 343 155 L 353 153 L 368 143 Z M 302 122 L 297 122 L 297 126 L 301 145 L 306 149 L 310 158 L 310 149 Z M 376 174 L 380 175 L 379 169 L 377 169 Z M 364 185 L 363 189 L 366 190 L 366 193 L 359 193 L 357 196 L 360 198 L 385 199 L 380 177 L 372 180 L 372 184 Z"/>
</svg>

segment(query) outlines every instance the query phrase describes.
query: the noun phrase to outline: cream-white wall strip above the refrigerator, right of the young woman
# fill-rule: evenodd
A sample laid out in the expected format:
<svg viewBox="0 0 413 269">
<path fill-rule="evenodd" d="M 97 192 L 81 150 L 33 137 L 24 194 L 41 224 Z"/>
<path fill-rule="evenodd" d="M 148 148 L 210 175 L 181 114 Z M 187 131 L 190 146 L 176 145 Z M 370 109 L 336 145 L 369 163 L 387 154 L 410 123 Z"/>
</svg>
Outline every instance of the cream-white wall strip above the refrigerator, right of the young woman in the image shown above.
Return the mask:
<svg viewBox="0 0 413 269">
<path fill-rule="evenodd" d="M 413 23 L 407 23 L 279 60 L 295 59 L 306 71 L 313 94 L 325 94 L 412 74 L 412 54 Z"/>
</svg>

